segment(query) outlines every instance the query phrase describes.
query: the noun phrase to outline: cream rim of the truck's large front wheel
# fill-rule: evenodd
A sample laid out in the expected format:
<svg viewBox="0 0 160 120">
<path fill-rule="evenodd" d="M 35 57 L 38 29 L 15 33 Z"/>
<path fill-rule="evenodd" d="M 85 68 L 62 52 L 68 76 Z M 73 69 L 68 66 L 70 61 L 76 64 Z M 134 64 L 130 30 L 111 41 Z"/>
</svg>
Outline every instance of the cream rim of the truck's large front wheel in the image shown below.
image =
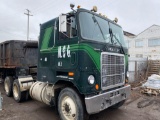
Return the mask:
<svg viewBox="0 0 160 120">
<path fill-rule="evenodd" d="M 76 118 L 76 104 L 69 96 L 62 99 L 61 104 L 62 113 L 66 120 L 75 120 Z"/>
</svg>

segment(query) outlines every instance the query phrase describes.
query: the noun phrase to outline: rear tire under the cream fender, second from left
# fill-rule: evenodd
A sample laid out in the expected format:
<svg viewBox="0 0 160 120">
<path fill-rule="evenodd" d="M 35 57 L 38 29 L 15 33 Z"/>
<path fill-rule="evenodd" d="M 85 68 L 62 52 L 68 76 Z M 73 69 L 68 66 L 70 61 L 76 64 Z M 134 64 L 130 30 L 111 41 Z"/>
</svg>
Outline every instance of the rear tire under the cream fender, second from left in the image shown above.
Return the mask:
<svg viewBox="0 0 160 120">
<path fill-rule="evenodd" d="M 19 81 L 16 79 L 13 82 L 13 97 L 16 102 L 26 101 L 28 99 L 28 91 L 21 92 Z"/>
</svg>

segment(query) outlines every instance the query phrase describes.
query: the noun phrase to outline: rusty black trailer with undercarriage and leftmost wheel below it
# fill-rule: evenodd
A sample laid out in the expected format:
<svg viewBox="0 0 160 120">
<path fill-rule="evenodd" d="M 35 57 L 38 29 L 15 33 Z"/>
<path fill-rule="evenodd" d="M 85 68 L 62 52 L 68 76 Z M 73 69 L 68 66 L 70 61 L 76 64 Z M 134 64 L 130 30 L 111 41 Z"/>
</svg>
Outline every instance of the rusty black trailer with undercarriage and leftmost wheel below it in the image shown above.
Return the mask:
<svg viewBox="0 0 160 120">
<path fill-rule="evenodd" d="M 13 82 L 24 76 L 36 77 L 38 41 L 9 40 L 0 43 L 0 78 L 7 96 L 12 95 Z"/>
</svg>

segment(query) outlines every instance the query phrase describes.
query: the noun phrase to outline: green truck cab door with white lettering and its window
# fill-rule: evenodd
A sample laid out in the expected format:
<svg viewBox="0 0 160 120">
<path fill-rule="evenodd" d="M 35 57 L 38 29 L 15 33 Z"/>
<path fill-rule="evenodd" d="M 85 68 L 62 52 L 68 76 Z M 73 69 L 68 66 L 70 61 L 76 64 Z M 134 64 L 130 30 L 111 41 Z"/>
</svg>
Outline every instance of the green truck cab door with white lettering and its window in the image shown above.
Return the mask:
<svg viewBox="0 0 160 120">
<path fill-rule="evenodd" d="M 75 69 L 77 66 L 78 48 L 77 25 L 74 15 L 66 16 L 66 31 L 59 32 L 57 41 L 58 54 L 56 67 L 58 69 Z"/>
</svg>

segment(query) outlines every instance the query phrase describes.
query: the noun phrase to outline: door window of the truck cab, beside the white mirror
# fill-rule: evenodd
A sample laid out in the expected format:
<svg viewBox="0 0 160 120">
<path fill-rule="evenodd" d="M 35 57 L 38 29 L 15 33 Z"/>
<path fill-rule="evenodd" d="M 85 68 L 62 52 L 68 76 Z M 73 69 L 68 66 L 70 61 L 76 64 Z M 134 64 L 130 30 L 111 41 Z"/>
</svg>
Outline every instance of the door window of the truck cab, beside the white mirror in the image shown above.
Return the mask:
<svg viewBox="0 0 160 120">
<path fill-rule="evenodd" d="M 77 36 L 77 25 L 75 16 L 67 16 L 67 32 L 60 32 L 59 39 L 69 39 Z"/>
</svg>

